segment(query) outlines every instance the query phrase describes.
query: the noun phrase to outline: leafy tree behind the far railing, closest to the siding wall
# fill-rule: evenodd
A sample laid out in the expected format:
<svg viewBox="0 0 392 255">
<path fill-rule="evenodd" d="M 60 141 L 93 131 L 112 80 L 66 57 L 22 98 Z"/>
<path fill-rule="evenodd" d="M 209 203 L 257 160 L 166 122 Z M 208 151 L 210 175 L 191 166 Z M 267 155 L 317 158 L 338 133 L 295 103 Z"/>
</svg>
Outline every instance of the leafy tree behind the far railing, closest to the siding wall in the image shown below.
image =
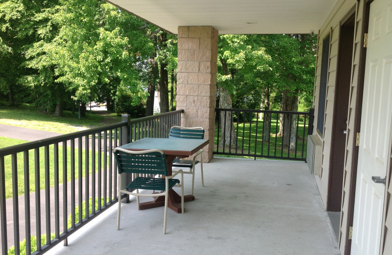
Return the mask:
<svg viewBox="0 0 392 255">
<path fill-rule="evenodd" d="M 317 37 L 310 34 L 266 35 L 264 45 L 271 56 L 270 87 L 281 94 L 282 111 L 298 111 L 300 95 L 312 94 Z M 280 116 L 283 145 L 295 146 L 296 116 Z"/>
</svg>

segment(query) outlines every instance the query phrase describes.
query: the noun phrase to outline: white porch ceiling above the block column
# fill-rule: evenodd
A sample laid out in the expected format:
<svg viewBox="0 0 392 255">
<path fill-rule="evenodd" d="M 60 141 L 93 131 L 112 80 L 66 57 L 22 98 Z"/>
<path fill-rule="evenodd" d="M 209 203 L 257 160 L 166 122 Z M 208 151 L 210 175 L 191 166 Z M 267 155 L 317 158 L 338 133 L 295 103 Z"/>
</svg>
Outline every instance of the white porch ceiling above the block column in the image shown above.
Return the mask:
<svg viewBox="0 0 392 255">
<path fill-rule="evenodd" d="M 220 34 L 318 32 L 337 0 L 108 0 L 177 34 L 178 26 L 213 26 Z"/>
</svg>

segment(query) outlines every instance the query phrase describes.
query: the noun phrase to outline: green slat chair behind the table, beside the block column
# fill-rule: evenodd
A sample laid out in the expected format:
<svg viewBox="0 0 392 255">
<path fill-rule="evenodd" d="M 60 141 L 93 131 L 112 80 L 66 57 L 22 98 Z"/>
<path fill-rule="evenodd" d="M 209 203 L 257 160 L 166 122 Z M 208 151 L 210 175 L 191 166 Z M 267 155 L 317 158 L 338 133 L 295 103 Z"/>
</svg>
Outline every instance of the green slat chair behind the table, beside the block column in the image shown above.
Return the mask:
<svg viewBox="0 0 392 255">
<path fill-rule="evenodd" d="M 203 139 L 204 129 L 202 127 L 185 128 L 185 127 L 173 126 L 172 128 L 170 128 L 169 138 Z M 200 160 L 196 160 L 198 156 L 200 156 Z M 192 160 L 183 160 L 183 159 L 175 158 L 172 162 L 173 167 L 189 168 L 189 171 L 183 171 L 183 173 L 192 175 L 192 195 L 193 195 L 194 183 L 195 183 L 195 165 L 198 163 L 200 163 L 201 185 L 204 187 L 203 149 L 195 153 L 193 155 Z"/>
</svg>

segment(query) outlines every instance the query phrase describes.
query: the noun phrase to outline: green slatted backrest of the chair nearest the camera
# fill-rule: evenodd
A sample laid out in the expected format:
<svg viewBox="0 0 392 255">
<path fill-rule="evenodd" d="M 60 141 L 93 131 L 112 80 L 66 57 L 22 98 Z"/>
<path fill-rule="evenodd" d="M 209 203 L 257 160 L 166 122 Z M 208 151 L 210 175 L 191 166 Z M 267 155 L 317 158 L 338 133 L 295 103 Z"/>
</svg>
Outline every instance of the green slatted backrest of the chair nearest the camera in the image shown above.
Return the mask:
<svg viewBox="0 0 392 255">
<path fill-rule="evenodd" d="M 160 150 L 126 151 L 114 149 L 119 174 L 136 173 L 168 176 L 165 154 Z M 145 153 L 146 152 L 146 153 Z"/>
</svg>

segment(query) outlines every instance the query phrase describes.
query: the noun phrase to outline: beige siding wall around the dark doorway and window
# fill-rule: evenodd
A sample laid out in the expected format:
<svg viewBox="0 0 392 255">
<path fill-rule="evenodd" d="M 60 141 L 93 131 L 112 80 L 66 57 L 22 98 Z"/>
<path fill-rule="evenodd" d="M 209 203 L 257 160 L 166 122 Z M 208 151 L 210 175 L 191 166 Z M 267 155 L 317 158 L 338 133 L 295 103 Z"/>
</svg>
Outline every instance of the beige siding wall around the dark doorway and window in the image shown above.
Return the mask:
<svg viewBox="0 0 392 255">
<path fill-rule="evenodd" d="M 349 195 L 351 187 L 351 171 L 352 171 L 352 158 L 353 149 L 355 144 L 355 134 L 353 132 L 355 116 L 355 107 L 357 105 L 357 86 L 358 86 L 358 76 L 359 76 L 359 54 L 361 50 L 360 42 L 362 40 L 362 16 L 363 16 L 364 1 L 361 0 L 357 2 L 356 0 L 339 0 L 328 17 L 327 21 L 323 24 L 319 32 L 319 45 L 318 45 L 318 55 L 317 55 L 317 65 L 316 65 L 316 77 L 315 77 L 315 93 L 314 93 L 314 107 L 317 113 L 318 103 L 319 103 L 319 84 L 320 84 L 320 68 L 321 68 L 321 49 L 322 39 L 325 38 L 328 33 L 330 33 L 330 56 L 329 56 L 329 66 L 328 66 L 328 81 L 327 81 L 327 92 L 326 92 L 326 105 L 325 105 L 325 116 L 324 116 L 324 136 L 320 140 L 323 142 L 322 146 L 322 163 L 321 163 L 321 174 L 320 176 L 315 176 L 317 185 L 319 187 L 320 195 L 324 206 L 326 206 L 328 200 L 328 188 L 329 188 L 329 162 L 330 162 L 330 152 L 331 152 L 331 134 L 332 134 L 332 122 L 333 122 L 333 106 L 335 99 L 335 86 L 336 86 L 336 76 L 337 76 L 337 64 L 338 64 L 338 51 L 339 51 L 339 34 L 341 22 L 348 16 L 352 14 L 352 9 L 354 8 L 356 24 L 354 32 L 354 49 L 353 49 L 353 62 L 351 71 L 351 84 L 350 84 L 350 99 L 349 109 L 347 113 L 347 136 L 346 136 L 346 151 L 345 151 L 345 161 L 344 161 L 344 174 L 343 174 L 343 194 L 342 194 L 342 211 L 341 211 L 341 223 L 340 223 L 340 233 L 338 237 L 339 249 L 342 254 L 344 254 L 346 247 L 346 236 L 348 229 L 348 205 L 349 205 Z M 314 124 L 317 124 L 317 118 L 315 116 Z M 317 133 L 317 128 L 315 128 L 315 134 Z"/>
</svg>

